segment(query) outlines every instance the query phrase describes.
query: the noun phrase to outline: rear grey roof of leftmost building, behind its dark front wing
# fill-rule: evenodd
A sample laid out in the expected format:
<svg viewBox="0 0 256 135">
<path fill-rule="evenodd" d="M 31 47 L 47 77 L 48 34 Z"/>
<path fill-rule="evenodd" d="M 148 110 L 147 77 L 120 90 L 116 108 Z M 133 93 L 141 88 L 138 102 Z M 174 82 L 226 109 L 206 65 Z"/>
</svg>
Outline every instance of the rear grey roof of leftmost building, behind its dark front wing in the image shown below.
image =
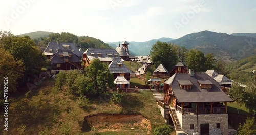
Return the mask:
<svg viewBox="0 0 256 135">
<path fill-rule="evenodd" d="M 68 46 L 65 46 L 68 45 Z M 65 46 L 65 47 L 63 47 Z M 52 49 L 52 51 L 50 51 Z M 73 53 L 78 57 L 82 56 L 82 53 L 79 52 L 79 49 L 75 46 L 74 43 L 66 43 L 66 42 L 49 42 L 48 46 L 46 47 L 44 54 L 47 55 L 49 53 L 57 53 L 58 50 L 74 50 Z"/>
</svg>

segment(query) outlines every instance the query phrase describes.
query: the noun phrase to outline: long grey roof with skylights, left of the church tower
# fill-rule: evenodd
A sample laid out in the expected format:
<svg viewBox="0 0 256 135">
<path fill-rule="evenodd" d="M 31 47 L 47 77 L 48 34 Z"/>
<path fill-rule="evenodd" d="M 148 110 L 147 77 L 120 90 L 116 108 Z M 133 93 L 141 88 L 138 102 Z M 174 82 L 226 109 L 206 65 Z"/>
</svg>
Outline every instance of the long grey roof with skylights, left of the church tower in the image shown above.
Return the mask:
<svg viewBox="0 0 256 135">
<path fill-rule="evenodd" d="M 115 49 L 107 48 L 88 48 L 83 54 L 86 54 L 90 61 L 94 59 L 99 59 L 100 61 L 113 61 L 114 57 L 121 58 L 119 53 Z M 94 55 L 92 56 L 91 54 Z M 97 54 L 102 55 L 98 56 Z M 124 60 L 122 59 L 122 61 Z"/>
</svg>

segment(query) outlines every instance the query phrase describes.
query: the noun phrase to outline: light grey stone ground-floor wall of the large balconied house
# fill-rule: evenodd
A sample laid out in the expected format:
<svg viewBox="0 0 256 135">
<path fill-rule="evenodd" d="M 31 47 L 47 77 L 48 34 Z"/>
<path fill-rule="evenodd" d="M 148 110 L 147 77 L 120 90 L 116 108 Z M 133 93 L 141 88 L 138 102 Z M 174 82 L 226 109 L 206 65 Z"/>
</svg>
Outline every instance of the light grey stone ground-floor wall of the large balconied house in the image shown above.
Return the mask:
<svg viewBox="0 0 256 135">
<path fill-rule="evenodd" d="M 227 135 L 228 119 L 227 114 L 199 114 L 198 115 L 198 132 L 200 135 L 200 124 L 209 124 L 210 130 L 216 129 L 216 124 L 220 123 L 221 133 Z M 182 115 L 182 130 L 191 135 L 190 124 L 194 124 L 194 130 L 197 132 L 197 115 Z"/>
</svg>

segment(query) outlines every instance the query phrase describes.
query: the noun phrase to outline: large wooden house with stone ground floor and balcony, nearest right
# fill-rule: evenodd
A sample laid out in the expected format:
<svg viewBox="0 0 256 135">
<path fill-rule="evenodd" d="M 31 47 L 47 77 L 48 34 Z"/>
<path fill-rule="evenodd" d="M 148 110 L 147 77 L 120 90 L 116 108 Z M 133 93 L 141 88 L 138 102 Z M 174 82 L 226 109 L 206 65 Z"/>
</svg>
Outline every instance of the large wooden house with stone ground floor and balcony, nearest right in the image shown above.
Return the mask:
<svg viewBox="0 0 256 135">
<path fill-rule="evenodd" d="M 227 103 L 233 102 L 206 73 L 175 73 L 164 82 L 164 103 L 176 130 L 191 135 L 221 131 L 227 135 Z"/>
</svg>

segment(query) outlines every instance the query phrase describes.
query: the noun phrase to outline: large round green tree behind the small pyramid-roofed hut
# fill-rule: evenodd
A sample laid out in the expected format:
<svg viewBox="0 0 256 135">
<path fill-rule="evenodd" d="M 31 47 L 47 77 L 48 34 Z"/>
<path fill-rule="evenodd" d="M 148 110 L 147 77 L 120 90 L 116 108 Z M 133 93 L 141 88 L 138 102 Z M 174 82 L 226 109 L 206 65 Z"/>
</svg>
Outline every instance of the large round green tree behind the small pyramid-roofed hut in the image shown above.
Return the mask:
<svg viewBox="0 0 256 135">
<path fill-rule="evenodd" d="M 173 44 L 157 41 L 151 48 L 150 54 L 155 67 L 163 64 L 167 70 L 171 70 L 178 62 L 176 48 Z"/>
</svg>

